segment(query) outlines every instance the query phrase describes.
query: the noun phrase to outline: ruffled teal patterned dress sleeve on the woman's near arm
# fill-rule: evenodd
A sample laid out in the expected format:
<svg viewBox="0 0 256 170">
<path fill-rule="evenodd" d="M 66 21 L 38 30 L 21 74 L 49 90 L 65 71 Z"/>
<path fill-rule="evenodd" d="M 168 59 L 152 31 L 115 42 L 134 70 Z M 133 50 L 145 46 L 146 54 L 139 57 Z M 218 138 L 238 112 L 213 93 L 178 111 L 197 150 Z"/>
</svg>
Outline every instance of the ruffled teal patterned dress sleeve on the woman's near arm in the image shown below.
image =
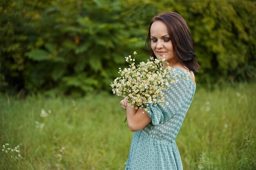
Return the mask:
<svg viewBox="0 0 256 170">
<path fill-rule="evenodd" d="M 182 109 L 186 88 L 184 80 L 179 80 L 176 84 L 171 85 L 170 88 L 164 91 L 166 95 L 164 102 L 156 103 L 156 106 L 155 104 L 146 104 L 144 106 L 153 125 L 164 123 L 173 118 Z M 168 103 L 166 104 L 166 102 Z"/>
</svg>

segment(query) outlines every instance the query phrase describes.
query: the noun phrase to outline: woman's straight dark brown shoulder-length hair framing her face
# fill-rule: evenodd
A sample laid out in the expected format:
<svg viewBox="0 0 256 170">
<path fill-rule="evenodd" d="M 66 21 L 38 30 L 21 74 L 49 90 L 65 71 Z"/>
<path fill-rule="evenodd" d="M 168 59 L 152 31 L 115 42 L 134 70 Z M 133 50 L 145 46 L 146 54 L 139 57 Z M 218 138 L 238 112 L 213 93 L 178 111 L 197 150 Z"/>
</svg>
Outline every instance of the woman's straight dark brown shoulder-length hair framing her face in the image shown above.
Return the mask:
<svg viewBox="0 0 256 170">
<path fill-rule="evenodd" d="M 150 27 L 155 21 L 162 21 L 168 29 L 171 42 L 173 44 L 173 52 L 176 60 L 186 66 L 189 70 L 197 72 L 200 67 L 195 59 L 194 39 L 189 32 L 186 21 L 175 12 L 164 12 L 156 15 L 150 22 L 148 37 L 146 39 L 146 50 L 148 55 L 156 58 L 151 49 Z"/>
</svg>

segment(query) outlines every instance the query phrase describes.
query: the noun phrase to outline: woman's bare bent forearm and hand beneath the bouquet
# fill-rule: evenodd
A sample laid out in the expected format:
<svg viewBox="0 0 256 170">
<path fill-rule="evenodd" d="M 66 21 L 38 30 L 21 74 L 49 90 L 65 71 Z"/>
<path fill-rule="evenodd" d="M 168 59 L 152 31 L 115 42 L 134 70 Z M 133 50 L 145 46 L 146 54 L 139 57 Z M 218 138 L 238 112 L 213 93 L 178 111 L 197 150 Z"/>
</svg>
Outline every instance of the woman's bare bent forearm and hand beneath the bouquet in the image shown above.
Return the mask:
<svg viewBox="0 0 256 170">
<path fill-rule="evenodd" d="M 136 110 L 132 106 L 127 105 L 126 100 L 127 97 L 120 104 L 122 108 L 126 109 L 128 126 L 132 132 L 139 131 L 146 127 L 152 120 L 143 108 Z"/>
</svg>

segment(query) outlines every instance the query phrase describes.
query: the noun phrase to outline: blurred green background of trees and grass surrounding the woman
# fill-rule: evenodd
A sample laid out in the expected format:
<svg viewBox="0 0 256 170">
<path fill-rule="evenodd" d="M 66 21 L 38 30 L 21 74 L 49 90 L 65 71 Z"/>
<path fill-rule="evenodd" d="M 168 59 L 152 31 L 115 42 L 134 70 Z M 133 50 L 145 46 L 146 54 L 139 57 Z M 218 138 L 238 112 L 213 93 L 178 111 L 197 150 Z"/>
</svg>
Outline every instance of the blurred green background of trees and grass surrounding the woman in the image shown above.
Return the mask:
<svg viewBox="0 0 256 170">
<path fill-rule="evenodd" d="M 255 9 L 254 0 L 1 0 L 0 169 L 124 169 L 133 133 L 109 84 L 125 56 L 148 58 L 151 18 L 175 11 L 202 66 L 176 139 L 184 170 L 255 170 Z"/>
</svg>

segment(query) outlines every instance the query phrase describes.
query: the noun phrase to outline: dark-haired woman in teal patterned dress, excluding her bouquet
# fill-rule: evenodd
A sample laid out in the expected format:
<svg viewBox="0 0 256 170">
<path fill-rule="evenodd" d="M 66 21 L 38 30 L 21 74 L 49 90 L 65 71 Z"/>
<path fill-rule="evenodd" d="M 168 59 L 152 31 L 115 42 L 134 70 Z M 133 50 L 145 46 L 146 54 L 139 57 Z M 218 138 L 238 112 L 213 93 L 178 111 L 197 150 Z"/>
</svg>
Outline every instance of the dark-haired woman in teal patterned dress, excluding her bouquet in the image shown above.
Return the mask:
<svg viewBox="0 0 256 170">
<path fill-rule="evenodd" d="M 177 13 L 156 15 L 149 26 L 146 48 L 151 56 L 165 58 L 175 73 L 188 75 L 164 91 L 168 104 L 148 104 L 148 110 L 126 105 L 127 122 L 134 131 L 126 170 L 182 170 L 175 138 L 195 93 L 193 72 L 199 65 L 195 59 L 193 38 L 185 20 Z M 146 114 L 145 114 L 146 113 Z"/>
</svg>

